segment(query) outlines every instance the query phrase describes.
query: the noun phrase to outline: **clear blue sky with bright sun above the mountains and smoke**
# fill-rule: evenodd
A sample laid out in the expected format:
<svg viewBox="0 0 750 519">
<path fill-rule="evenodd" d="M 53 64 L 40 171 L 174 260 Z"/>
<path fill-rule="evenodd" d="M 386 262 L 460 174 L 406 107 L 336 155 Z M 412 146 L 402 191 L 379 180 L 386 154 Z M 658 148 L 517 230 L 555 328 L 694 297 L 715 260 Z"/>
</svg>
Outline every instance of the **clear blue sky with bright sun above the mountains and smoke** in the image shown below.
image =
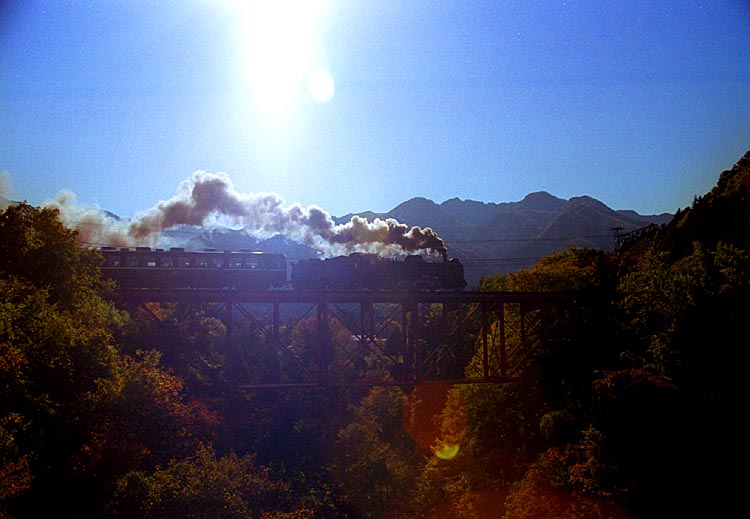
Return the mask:
<svg viewBox="0 0 750 519">
<path fill-rule="evenodd" d="M 746 0 L 15 0 L 0 172 L 122 216 L 197 170 L 339 216 L 541 190 L 674 212 L 750 149 L 749 62 Z"/>
</svg>

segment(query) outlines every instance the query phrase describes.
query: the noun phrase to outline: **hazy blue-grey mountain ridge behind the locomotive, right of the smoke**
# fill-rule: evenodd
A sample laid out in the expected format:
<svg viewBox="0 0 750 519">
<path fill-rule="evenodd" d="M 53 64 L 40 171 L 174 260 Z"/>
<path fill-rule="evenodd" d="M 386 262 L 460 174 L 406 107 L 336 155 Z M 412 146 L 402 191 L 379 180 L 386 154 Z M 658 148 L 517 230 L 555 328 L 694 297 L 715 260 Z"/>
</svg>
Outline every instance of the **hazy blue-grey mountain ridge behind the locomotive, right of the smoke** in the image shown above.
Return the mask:
<svg viewBox="0 0 750 519">
<path fill-rule="evenodd" d="M 449 255 L 464 263 L 469 285 L 478 284 L 485 275 L 528 268 L 542 256 L 571 246 L 611 250 L 620 234 L 666 224 L 674 216 L 614 210 L 588 195 L 566 200 L 546 191 L 500 203 L 455 197 L 438 204 L 414 197 L 386 213 L 350 213 L 334 221 L 343 224 L 355 215 L 432 228 Z"/>
</svg>

